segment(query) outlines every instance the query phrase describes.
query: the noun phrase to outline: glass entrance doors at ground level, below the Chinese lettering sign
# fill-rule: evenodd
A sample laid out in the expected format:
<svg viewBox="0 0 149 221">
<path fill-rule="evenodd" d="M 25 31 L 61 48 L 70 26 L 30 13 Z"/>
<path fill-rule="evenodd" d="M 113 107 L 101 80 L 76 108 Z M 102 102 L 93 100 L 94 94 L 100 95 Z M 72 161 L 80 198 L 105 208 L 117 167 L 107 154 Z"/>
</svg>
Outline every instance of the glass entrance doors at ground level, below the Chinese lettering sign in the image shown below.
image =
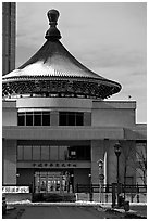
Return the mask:
<svg viewBox="0 0 149 221">
<path fill-rule="evenodd" d="M 35 172 L 36 193 L 63 193 L 70 192 L 70 173 L 61 171 L 39 171 Z"/>
</svg>

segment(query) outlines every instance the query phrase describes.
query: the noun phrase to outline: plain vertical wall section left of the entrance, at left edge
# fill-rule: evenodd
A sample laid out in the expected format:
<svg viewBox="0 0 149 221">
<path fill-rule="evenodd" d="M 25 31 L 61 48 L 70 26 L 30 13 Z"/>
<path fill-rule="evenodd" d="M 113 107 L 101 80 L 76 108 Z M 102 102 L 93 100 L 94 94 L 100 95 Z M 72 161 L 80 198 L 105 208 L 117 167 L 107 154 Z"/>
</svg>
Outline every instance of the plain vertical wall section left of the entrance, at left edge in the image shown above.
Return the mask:
<svg viewBox="0 0 149 221">
<path fill-rule="evenodd" d="M 16 184 L 16 141 L 3 140 L 3 184 Z"/>
</svg>

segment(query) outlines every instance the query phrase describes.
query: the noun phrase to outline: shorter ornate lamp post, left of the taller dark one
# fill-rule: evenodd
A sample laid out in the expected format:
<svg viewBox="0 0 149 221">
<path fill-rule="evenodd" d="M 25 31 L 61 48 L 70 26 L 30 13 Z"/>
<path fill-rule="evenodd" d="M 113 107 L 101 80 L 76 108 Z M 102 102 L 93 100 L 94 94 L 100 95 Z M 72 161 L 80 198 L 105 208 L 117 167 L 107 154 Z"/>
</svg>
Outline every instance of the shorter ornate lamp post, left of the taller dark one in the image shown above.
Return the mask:
<svg viewBox="0 0 149 221">
<path fill-rule="evenodd" d="M 102 159 L 99 159 L 97 161 L 98 164 L 98 167 L 99 167 L 99 202 L 100 203 L 103 203 L 103 190 L 102 190 L 102 183 L 103 183 L 103 180 L 104 180 L 104 174 L 103 174 L 103 160 Z"/>
</svg>

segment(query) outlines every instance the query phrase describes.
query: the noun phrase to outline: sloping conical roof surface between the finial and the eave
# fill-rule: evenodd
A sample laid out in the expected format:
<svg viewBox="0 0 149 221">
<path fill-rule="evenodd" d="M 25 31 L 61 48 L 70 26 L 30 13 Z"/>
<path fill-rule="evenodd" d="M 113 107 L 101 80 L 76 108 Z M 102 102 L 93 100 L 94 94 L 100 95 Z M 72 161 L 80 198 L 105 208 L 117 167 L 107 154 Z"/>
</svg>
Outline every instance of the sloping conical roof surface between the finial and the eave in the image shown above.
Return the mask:
<svg viewBox="0 0 149 221">
<path fill-rule="evenodd" d="M 47 53 L 45 53 L 47 51 Z M 48 53 L 49 52 L 49 53 Z M 23 69 L 25 68 L 25 67 L 28 67 L 29 65 L 33 65 L 33 64 L 37 64 L 38 62 L 41 62 L 45 66 L 46 65 L 48 65 L 48 66 L 50 66 L 50 64 L 48 63 L 48 58 L 49 57 L 52 57 L 52 56 L 54 56 L 55 55 L 55 58 L 58 58 L 58 62 L 60 62 L 60 60 L 61 60 L 61 62 L 63 62 L 64 60 L 65 60 L 65 57 L 69 60 L 69 62 L 71 62 L 71 64 L 73 65 L 73 67 L 74 67 L 74 65 L 77 67 L 77 68 L 75 68 L 75 70 L 78 73 L 80 73 L 79 75 L 80 76 L 76 76 L 76 78 L 77 77 L 82 77 L 82 78 L 92 78 L 92 79 L 97 79 L 97 80 L 102 80 L 102 81 L 109 81 L 109 82 L 112 82 L 112 83 L 115 83 L 117 87 L 121 87 L 121 84 L 120 83 L 117 83 L 117 82 L 115 82 L 115 81 L 113 81 L 113 80 L 109 80 L 109 79 L 107 79 L 107 78 L 104 78 L 104 77 L 101 77 L 100 75 L 98 75 L 98 74 L 96 74 L 96 73 L 94 73 L 92 70 L 90 70 L 89 68 L 87 68 L 86 66 L 84 66 L 80 62 L 78 62 L 66 49 L 65 49 L 65 47 L 59 41 L 59 40 L 55 40 L 54 42 L 53 41 L 49 41 L 49 40 L 47 40 L 46 42 L 45 42 L 45 44 L 27 61 L 27 62 L 25 62 L 23 65 L 21 65 L 18 68 L 16 68 L 16 69 L 14 69 L 13 72 L 11 72 L 10 74 L 8 74 L 8 75 L 5 75 L 5 76 L 3 76 L 2 77 L 2 79 L 9 79 L 9 78 L 11 78 L 11 74 L 12 74 L 12 77 L 14 77 L 15 76 L 15 78 L 16 77 L 20 77 L 20 78 L 22 78 L 22 77 L 26 77 L 26 78 L 28 78 L 28 75 L 23 75 Z M 60 57 L 57 57 L 57 56 L 60 56 Z M 66 62 L 67 61 L 64 61 L 64 64 L 65 64 L 65 66 L 66 66 Z M 55 61 L 55 63 L 57 63 L 57 61 Z M 65 68 L 65 66 L 63 67 L 63 68 Z M 67 66 L 66 66 L 67 67 Z M 36 73 L 34 74 L 34 76 L 35 77 L 52 77 L 52 76 L 54 76 L 54 77 L 73 77 L 73 78 L 75 78 L 75 75 L 76 75 L 76 73 L 75 73 L 75 70 L 74 70 L 74 73 L 72 74 L 70 74 L 70 73 L 66 73 L 66 72 L 64 72 L 64 70 L 58 70 L 57 72 L 57 69 L 55 69 L 55 72 L 57 72 L 57 74 L 55 75 L 51 75 L 50 74 L 50 70 L 49 70 L 49 73 L 48 73 L 48 69 L 47 69 L 47 73 L 48 74 L 42 74 L 42 75 L 36 75 Z M 18 75 L 16 75 L 15 74 L 15 72 L 16 72 L 16 74 Z M 14 74 L 14 75 L 13 75 Z M 32 75 L 32 73 L 30 73 L 30 77 L 33 77 L 33 75 Z"/>
</svg>

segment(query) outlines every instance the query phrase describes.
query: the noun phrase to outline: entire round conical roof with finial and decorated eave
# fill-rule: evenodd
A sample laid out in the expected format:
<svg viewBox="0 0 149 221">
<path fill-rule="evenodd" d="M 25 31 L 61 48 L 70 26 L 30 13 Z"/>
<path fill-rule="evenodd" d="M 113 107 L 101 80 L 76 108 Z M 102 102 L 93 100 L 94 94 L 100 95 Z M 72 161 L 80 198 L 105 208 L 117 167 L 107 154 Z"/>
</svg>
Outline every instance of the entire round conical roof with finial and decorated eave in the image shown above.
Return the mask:
<svg viewBox="0 0 149 221">
<path fill-rule="evenodd" d="M 25 64 L 2 77 L 3 98 L 66 96 L 105 99 L 121 84 L 80 64 L 60 42 L 59 12 L 48 12 L 47 41 Z"/>
</svg>

